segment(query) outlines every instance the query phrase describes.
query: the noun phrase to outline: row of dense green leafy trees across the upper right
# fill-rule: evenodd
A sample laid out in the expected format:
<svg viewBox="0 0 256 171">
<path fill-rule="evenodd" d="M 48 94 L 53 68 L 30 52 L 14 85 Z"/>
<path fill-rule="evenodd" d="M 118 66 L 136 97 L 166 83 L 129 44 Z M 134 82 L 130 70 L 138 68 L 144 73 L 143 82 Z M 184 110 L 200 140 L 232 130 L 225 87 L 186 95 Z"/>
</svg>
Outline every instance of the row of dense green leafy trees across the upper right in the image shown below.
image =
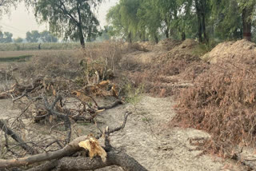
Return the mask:
<svg viewBox="0 0 256 171">
<path fill-rule="evenodd" d="M 129 42 L 250 40 L 255 30 L 255 4 L 256 0 L 120 0 L 109 10 L 107 21 L 115 37 Z"/>
</svg>

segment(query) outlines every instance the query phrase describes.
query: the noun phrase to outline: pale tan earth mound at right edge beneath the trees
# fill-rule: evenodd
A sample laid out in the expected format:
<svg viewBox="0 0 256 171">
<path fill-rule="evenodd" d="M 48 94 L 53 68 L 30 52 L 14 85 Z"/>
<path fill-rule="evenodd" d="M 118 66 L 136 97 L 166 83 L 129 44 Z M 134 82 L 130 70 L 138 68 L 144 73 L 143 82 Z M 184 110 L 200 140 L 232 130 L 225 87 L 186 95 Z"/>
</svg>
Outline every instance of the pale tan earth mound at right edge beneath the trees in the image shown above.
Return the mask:
<svg viewBox="0 0 256 171">
<path fill-rule="evenodd" d="M 202 59 L 210 63 L 217 63 L 223 59 L 248 59 L 255 60 L 256 45 L 254 42 L 248 42 L 245 39 L 237 42 L 223 42 L 218 44 L 213 50 L 205 54 Z"/>
</svg>

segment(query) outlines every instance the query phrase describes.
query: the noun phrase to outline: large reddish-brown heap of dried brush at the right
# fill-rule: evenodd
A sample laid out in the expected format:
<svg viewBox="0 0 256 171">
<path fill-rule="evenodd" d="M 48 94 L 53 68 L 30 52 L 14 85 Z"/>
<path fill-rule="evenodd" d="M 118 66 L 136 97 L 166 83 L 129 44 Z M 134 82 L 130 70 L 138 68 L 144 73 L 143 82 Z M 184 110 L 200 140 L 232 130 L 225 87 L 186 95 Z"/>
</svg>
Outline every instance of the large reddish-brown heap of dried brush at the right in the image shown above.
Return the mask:
<svg viewBox="0 0 256 171">
<path fill-rule="evenodd" d="M 183 89 L 172 124 L 210 133 L 206 150 L 232 156 L 238 146 L 255 147 L 255 59 L 226 59 L 210 66 Z"/>
</svg>

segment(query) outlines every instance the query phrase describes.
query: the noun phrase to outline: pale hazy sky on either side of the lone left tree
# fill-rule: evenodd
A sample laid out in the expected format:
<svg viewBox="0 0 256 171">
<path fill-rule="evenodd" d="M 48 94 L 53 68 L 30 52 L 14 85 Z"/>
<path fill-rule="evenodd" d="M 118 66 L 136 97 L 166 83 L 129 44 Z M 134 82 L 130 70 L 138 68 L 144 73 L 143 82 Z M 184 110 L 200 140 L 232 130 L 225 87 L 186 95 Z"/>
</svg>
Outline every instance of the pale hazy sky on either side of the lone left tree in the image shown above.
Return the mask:
<svg viewBox="0 0 256 171">
<path fill-rule="evenodd" d="M 106 25 L 106 13 L 111 6 L 114 6 L 118 0 L 106 0 L 99 6 L 98 9 L 98 19 L 101 26 Z M 47 25 L 42 24 L 38 25 L 36 19 L 34 18 L 33 11 L 26 10 L 26 7 L 23 3 L 20 3 L 16 10 L 11 9 L 10 16 L 4 15 L 0 19 L 0 30 L 9 31 L 14 34 L 13 38 L 26 38 L 26 32 L 31 30 L 47 30 Z"/>
</svg>

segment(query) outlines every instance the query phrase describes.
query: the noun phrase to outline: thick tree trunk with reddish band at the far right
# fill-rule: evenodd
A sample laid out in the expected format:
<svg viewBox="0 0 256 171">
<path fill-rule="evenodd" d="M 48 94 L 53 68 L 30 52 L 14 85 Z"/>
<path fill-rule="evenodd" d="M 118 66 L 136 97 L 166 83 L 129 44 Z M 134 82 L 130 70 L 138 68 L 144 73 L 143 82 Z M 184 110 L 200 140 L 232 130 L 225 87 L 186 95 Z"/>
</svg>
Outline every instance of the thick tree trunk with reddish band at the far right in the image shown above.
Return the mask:
<svg viewBox="0 0 256 171">
<path fill-rule="evenodd" d="M 242 27 L 243 27 L 243 38 L 247 41 L 251 41 L 251 19 L 252 7 L 245 7 L 242 10 Z"/>
</svg>

